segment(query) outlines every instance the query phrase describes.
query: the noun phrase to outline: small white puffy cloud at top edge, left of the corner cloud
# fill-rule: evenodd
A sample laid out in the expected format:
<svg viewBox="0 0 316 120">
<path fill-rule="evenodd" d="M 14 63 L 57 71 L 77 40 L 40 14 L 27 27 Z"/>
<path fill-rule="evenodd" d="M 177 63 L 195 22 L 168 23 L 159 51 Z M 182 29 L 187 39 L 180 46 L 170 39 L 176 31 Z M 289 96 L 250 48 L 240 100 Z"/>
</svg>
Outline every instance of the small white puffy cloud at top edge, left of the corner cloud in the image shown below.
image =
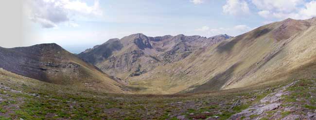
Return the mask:
<svg viewBox="0 0 316 120">
<path fill-rule="evenodd" d="M 248 3 L 244 0 L 227 0 L 223 6 L 223 12 L 229 15 L 248 15 L 250 13 Z"/>
</svg>

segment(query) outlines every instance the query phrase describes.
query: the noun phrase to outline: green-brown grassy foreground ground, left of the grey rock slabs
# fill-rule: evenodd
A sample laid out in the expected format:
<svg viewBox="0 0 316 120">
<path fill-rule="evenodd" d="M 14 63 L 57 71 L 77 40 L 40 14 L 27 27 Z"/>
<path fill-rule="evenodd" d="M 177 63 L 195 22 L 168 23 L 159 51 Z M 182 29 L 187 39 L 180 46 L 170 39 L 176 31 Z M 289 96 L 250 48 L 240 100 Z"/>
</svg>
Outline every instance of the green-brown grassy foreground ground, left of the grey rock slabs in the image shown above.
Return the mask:
<svg viewBox="0 0 316 120">
<path fill-rule="evenodd" d="M 191 119 L 219 116 L 225 120 L 270 92 L 262 87 L 254 91 L 245 88 L 199 94 L 109 94 L 50 84 L 0 70 L 0 119 L 165 120 L 176 116 Z M 256 99 L 251 101 L 251 98 Z M 230 109 L 238 100 L 242 103 Z"/>
</svg>

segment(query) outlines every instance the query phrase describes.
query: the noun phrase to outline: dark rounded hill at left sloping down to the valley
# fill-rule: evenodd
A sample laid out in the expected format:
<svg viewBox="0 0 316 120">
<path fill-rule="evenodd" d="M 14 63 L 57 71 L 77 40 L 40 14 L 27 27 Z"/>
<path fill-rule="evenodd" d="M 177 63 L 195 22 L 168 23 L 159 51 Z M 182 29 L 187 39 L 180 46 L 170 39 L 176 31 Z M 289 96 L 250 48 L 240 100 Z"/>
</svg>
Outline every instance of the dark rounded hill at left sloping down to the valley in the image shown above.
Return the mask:
<svg viewBox="0 0 316 120">
<path fill-rule="evenodd" d="M 56 44 L 0 47 L 0 68 L 41 81 L 121 93 L 123 85 Z"/>
</svg>

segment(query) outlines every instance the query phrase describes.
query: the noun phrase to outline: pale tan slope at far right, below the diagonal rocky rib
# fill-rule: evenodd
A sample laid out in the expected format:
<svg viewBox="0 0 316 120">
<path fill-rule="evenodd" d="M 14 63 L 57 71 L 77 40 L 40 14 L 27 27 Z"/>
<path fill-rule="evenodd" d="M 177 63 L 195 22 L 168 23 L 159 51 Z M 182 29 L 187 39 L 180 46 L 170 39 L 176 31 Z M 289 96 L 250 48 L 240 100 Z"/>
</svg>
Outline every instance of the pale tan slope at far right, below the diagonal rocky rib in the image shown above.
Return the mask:
<svg viewBox="0 0 316 120">
<path fill-rule="evenodd" d="M 228 86 L 227 89 L 242 87 L 245 83 L 251 85 L 258 82 L 316 77 L 316 54 L 313 52 L 316 50 L 315 31 L 316 27 L 313 26 L 299 32 L 290 38 L 291 41 L 255 74 Z"/>
</svg>

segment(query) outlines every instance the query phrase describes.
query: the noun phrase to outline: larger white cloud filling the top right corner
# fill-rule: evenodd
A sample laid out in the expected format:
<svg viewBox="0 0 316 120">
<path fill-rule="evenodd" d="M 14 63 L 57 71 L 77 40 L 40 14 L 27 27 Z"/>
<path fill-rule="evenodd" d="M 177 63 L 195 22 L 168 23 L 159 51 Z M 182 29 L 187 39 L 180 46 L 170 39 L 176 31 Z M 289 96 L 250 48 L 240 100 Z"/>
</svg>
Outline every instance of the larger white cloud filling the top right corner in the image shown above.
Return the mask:
<svg viewBox="0 0 316 120">
<path fill-rule="evenodd" d="M 316 16 L 316 0 L 252 0 L 258 15 L 266 19 L 308 19 Z"/>
</svg>

